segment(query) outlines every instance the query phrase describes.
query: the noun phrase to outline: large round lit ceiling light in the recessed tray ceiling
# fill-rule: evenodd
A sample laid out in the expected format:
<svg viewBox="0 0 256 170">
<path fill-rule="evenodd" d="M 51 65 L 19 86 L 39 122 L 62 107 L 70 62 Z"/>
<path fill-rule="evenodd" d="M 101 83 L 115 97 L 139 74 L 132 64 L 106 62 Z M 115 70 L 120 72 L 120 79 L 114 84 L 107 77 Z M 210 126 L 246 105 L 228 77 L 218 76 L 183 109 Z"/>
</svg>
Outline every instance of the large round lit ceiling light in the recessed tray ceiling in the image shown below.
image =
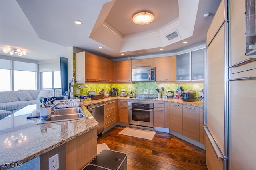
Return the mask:
<svg viewBox="0 0 256 170">
<path fill-rule="evenodd" d="M 132 17 L 132 22 L 138 25 L 149 24 L 154 20 L 154 16 L 149 12 L 139 12 Z"/>
</svg>

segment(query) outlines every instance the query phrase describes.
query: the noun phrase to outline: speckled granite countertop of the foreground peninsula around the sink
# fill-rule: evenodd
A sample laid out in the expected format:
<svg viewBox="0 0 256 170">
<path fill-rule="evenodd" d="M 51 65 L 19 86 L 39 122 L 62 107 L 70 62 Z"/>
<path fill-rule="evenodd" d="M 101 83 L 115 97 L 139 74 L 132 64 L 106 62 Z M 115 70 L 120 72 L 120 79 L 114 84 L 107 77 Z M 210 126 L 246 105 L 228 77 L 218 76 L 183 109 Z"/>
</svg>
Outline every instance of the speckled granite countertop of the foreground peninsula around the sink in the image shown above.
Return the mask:
<svg viewBox="0 0 256 170">
<path fill-rule="evenodd" d="M 1 169 L 8 163 L 23 164 L 98 127 L 94 117 L 36 125 L 39 119 L 26 117 L 38 108 L 28 105 L 0 120 Z"/>
</svg>

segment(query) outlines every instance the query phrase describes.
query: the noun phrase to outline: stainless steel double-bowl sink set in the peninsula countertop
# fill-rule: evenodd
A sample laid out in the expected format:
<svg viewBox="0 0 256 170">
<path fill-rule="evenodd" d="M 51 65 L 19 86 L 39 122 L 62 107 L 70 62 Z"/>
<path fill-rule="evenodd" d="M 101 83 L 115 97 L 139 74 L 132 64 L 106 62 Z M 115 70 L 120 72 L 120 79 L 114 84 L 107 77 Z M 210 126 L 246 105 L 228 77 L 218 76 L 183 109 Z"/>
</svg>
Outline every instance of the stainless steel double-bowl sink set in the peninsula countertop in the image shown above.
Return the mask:
<svg viewBox="0 0 256 170">
<path fill-rule="evenodd" d="M 54 109 L 54 112 L 48 117 L 41 117 L 36 124 L 54 123 L 60 121 L 72 121 L 77 119 L 87 119 L 81 107 L 69 107 Z"/>
</svg>

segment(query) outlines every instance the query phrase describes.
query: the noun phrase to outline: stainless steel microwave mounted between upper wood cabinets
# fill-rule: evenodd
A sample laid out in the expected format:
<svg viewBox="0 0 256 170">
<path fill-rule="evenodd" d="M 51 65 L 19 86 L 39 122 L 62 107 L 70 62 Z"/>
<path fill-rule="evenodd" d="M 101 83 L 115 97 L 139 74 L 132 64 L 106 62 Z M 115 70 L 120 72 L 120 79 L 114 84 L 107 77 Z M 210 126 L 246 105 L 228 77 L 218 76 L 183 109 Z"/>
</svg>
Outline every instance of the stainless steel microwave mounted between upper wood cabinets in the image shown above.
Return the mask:
<svg viewBox="0 0 256 170">
<path fill-rule="evenodd" d="M 156 81 L 155 68 L 132 69 L 132 81 Z"/>
</svg>

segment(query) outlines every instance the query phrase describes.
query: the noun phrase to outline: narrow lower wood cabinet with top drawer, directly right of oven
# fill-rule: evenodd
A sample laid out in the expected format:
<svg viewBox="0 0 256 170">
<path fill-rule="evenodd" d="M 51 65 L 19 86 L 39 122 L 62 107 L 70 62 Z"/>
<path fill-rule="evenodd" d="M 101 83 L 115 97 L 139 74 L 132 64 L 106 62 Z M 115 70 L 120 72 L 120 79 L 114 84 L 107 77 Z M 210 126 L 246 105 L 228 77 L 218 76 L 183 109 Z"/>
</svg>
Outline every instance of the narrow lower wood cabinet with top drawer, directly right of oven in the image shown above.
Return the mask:
<svg viewBox="0 0 256 170">
<path fill-rule="evenodd" d="M 154 127 L 165 128 L 165 102 L 154 101 Z"/>
</svg>

